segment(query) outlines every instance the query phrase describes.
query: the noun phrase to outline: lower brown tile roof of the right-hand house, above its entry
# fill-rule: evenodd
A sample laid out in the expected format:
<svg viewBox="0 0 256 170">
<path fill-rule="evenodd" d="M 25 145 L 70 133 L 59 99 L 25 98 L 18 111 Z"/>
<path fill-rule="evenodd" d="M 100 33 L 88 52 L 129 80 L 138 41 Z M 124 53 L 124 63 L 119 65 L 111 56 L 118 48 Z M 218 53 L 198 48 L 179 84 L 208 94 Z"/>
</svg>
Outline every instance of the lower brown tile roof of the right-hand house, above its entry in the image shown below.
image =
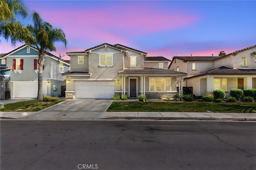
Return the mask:
<svg viewBox="0 0 256 170">
<path fill-rule="evenodd" d="M 190 77 L 186 77 L 184 79 L 190 79 L 190 78 L 199 77 L 202 75 L 247 75 L 247 74 L 256 75 L 256 69 L 233 69 L 231 67 L 220 66 L 214 69 L 210 69 L 208 71 L 204 71 L 202 73 L 192 75 Z"/>
</svg>

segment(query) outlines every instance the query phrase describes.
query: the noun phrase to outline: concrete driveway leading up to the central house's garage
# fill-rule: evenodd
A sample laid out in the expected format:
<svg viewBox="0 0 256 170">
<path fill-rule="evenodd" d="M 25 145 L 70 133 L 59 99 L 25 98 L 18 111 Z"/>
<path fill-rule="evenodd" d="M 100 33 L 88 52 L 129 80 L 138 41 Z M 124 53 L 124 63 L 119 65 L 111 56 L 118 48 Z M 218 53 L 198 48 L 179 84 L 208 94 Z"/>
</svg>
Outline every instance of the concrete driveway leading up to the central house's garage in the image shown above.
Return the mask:
<svg viewBox="0 0 256 170">
<path fill-rule="evenodd" d="M 68 99 L 57 105 L 43 109 L 41 112 L 105 112 L 112 101 L 113 99 Z"/>
</svg>

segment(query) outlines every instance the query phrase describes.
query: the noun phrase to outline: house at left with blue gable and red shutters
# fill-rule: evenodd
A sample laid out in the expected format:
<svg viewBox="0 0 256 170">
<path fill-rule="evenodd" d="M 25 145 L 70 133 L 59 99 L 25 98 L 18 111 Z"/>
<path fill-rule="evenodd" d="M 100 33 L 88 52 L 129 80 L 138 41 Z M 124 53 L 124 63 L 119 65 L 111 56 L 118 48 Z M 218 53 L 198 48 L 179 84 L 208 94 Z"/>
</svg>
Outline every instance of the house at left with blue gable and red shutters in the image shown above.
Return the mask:
<svg viewBox="0 0 256 170">
<path fill-rule="evenodd" d="M 62 73 L 69 70 L 69 61 L 45 52 L 43 67 L 43 95 L 65 96 L 66 77 Z M 2 62 L 6 64 L 10 83 L 4 90 L 10 98 L 36 98 L 38 95 L 38 51 L 31 46 L 22 45 L 9 53 L 1 55 Z M 1 85 L 4 83 L 1 79 Z M 2 89 L 1 89 L 2 94 Z M 2 96 L 1 96 L 2 99 Z"/>
</svg>

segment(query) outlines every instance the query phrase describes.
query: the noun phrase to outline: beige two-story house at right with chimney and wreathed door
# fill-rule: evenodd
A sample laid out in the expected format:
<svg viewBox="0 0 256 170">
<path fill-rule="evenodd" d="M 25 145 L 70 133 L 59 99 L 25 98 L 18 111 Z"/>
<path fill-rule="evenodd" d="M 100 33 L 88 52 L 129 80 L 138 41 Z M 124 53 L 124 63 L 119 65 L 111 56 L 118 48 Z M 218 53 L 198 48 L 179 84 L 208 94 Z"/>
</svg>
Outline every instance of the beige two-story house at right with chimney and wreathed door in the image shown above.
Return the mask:
<svg viewBox="0 0 256 170">
<path fill-rule="evenodd" d="M 256 45 L 219 56 L 174 56 L 169 70 L 185 71 L 183 86 L 193 87 L 194 95 L 213 94 L 214 89 L 256 88 Z"/>
</svg>

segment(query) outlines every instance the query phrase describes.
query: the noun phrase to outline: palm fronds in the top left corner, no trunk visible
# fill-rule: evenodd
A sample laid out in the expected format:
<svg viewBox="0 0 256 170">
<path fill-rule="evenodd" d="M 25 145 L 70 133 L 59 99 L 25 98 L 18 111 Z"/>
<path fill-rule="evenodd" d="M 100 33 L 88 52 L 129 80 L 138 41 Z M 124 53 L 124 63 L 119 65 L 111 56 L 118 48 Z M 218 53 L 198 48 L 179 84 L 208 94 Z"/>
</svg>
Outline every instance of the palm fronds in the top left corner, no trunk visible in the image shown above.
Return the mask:
<svg viewBox="0 0 256 170">
<path fill-rule="evenodd" d="M 24 42 L 32 38 L 29 31 L 17 20 L 16 15 L 22 18 L 30 16 L 28 8 L 20 0 L 0 0 L 0 36 L 6 41 L 10 38 L 12 46 L 16 42 Z"/>
</svg>

